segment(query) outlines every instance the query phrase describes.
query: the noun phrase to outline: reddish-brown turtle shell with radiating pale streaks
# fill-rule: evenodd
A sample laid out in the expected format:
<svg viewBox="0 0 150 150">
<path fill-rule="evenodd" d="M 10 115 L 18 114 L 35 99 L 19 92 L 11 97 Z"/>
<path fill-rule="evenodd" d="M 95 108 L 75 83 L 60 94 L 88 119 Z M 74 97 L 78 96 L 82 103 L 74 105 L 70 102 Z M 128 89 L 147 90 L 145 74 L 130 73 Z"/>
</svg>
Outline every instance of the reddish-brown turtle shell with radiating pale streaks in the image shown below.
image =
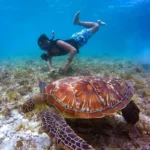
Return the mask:
<svg viewBox="0 0 150 150">
<path fill-rule="evenodd" d="M 69 77 L 48 84 L 47 104 L 64 117 L 101 118 L 126 107 L 133 96 L 132 85 L 124 80 L 100 77 Z"/>
</svg>

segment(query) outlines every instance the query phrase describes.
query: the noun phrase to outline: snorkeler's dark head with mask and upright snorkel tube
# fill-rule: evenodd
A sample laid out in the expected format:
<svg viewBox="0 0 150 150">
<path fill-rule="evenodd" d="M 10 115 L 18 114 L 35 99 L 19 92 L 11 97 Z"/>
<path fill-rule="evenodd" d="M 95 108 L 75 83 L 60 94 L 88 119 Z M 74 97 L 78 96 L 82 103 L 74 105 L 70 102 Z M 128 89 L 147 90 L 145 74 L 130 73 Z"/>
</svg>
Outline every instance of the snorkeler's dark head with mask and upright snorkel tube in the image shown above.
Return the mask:
<svg viewBox="0 0 150 150">
<path fill-rule="evenodd" d="M 39 38 L 38 38 L 38 45 L 40 46 L 40 48 L 42 50 L 50 50 L 52 45 L 53 45 L 53 40 L 55 37 L 55 33 L 54 31 L 52 31 L 52 38 L 49 39 L 45 34 L 42 34 Z"/>
</svg>

